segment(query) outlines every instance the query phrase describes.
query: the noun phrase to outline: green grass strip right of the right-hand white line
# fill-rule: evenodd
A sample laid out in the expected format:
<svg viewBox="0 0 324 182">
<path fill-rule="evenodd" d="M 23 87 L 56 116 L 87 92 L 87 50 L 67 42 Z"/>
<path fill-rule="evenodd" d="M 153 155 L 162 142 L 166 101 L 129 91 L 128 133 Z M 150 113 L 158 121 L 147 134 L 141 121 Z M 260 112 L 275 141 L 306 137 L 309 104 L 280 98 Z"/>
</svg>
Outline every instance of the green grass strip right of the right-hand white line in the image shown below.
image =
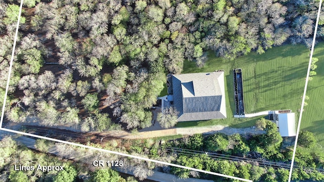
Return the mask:
<svg viewBox="0 0 324 182">
<path fill-rule="evenodd" d="M 311 131 L 315 134 L 318 149 L 324 147 L 324 42 L 315 46 L 313 57 L 318 58 L 315 71 L 317 75 L 308 82 L 307 93 L 309 100 L 304 107 L 301 129 Z"/>
</svg>

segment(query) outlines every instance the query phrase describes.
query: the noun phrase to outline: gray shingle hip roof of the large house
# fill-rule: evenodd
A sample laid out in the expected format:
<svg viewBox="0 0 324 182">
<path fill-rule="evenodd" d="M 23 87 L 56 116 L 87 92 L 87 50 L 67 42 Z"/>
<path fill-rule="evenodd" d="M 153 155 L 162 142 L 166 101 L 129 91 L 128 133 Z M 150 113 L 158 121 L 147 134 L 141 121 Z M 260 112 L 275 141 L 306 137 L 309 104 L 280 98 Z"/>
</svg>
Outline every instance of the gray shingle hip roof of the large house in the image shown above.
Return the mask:
<svg viewBox="0 0 324 182">
<path fill-rule="evenodd" d="M 224 72 L 173 75 L 178 121 L 226 118 Z"/>
</svg>

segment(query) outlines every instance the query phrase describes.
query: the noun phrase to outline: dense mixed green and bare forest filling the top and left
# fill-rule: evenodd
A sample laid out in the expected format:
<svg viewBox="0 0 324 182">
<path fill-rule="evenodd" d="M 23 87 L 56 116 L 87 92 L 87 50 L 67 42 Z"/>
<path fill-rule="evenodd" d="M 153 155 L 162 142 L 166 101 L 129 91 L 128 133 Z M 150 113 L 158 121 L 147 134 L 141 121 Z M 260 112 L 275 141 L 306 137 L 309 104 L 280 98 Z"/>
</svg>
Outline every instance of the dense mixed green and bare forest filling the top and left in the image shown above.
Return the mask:
<svg viewBox="0 0 324 182">
<path fill-rule="evenodd" d="M 18 5 L 0 0 L 2 97 Z M 184 60 L 202 67 L 208 50 L 231 61 L 283 43 L 310 47 L 317 6 L 312 0 L 25 0 L 6 116 L 83 131 L 150 126 L 166 73 L 181 73 Z"/>
</svg>

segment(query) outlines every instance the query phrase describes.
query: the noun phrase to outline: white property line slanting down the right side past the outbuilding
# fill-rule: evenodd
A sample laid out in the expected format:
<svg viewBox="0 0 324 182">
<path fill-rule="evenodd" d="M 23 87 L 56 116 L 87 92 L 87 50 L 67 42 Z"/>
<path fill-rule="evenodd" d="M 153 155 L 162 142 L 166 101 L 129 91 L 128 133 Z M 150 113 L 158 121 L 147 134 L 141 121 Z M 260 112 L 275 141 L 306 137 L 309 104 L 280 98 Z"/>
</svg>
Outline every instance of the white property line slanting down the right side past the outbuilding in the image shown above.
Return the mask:
<svg viewBox="0 0 324 182">
<path fill-rule="evenodd" d="M 289 182 L 291 181 L 292 173 L 293 173 L 293 166 L 294 166 L 294 161 L 295 161 L 297 141 L 298 141 L 298 135 L 299 135 L 299 130 L 300 130 L 300 123 L 301 123 L 301 120 L 302 120 L 302 115 L 303 115 L 303 110 L 304 110 L 306 90 L 307 90 L 307 84 L 308 84 L 309 72 L 310 72 L 310 65 L 312 63 L 312 58 L 313 58 L 313 53 L 314 53 L 316 32 L 317 32 L 317 26 L 318 26 L 318 20 L 319 20 L 319 14 L 320 14 L 321 5 L 322 5 L 322 0 L 319 1 L 317 18 L 316 18 L 316 23 L 315 23 L 315 31 L 314 31 L 313 42 L 312 42 L 312 48 L 310 50 L 310 56 L 309 56 L 309 62 L 308 62 L 308 68 L 307 68 L 307 75 L 306 75 L 306 82 L 305 82 L 304 94 L 303 94 L 303 99 L 302 99 L 302 107 L 300 108 L 300 115 L 299 115 L 299 119 L 298 119 L 297 133 L 296 133 L 296 139 L 295 139 L 295 145 L 294 145 L 294 151 L 293 151 L 293 158 L 292 158 L 292 163 L 290 164 L 290 171 L 289 171 L 289 178 L 288 178 Z"/>
</svg>

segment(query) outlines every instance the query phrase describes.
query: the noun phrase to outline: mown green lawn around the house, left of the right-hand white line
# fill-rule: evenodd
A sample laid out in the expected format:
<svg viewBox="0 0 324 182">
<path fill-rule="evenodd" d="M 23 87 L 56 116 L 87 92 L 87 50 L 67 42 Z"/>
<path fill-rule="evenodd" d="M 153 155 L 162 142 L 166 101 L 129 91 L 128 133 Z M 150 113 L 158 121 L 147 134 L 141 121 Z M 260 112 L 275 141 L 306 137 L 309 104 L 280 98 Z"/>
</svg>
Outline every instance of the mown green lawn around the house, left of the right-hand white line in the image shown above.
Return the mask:
<svg viewBox="0 0 324 182">
<path fill-rule="evenodd" d="M 234 61 L 218 58 L 214 53 L 210 52 L 208 62 L 201 69 L 197 68 L 194 62 L 185 61 L 182 73 L 225 70 L 227 118 L 179 122 L 177 126 L 222 124 L 231 127 L 249 127 L 255 124 L 255 121 L 260 117 L 252 119 L 233 118 L 235 103 L 232 70 L 234 68 L 242 68 L 246 113 L 291 109 L 296 113 L 297 118 L 299 115 L 297 110 L 301 107 L 301 96 L 305 85 L 309 53 L 309 50 L 304 45 L 282 45 L 266 51 L 265 54 L 258 55 L 253 52 Z M 321 85 L 323 84 L 324 82 Z M 310 97 L 312 96 L 310 95 Z"/>
</svg>

